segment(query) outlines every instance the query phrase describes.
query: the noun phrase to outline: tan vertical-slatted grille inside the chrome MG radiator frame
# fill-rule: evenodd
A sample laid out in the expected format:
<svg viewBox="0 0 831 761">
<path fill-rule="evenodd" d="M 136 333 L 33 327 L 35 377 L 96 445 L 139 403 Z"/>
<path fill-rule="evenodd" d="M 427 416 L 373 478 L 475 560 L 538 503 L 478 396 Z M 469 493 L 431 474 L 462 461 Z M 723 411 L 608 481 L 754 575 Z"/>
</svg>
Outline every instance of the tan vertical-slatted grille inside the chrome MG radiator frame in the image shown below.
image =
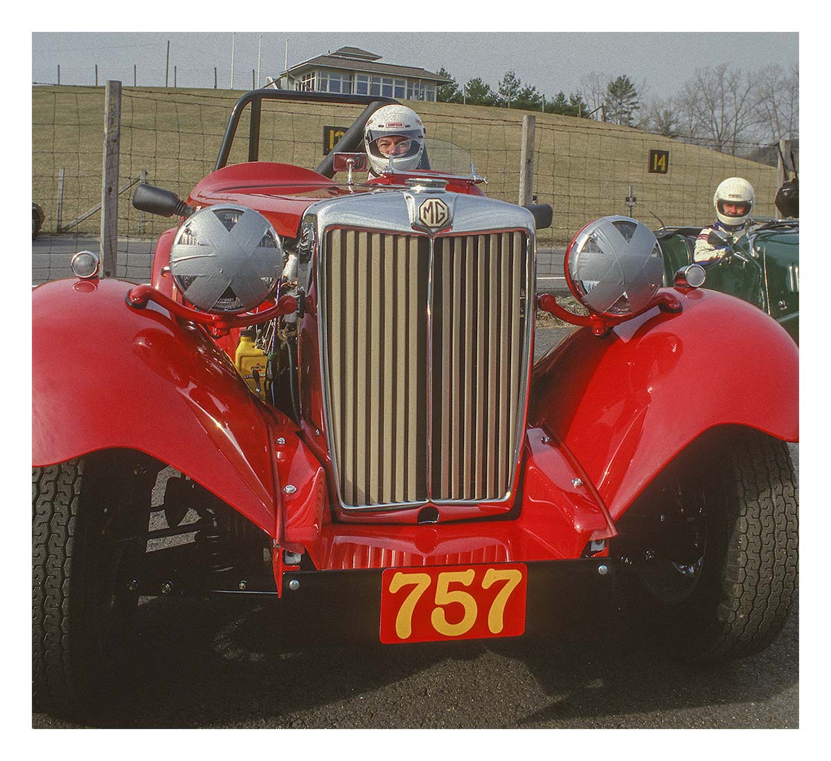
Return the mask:
<svg viewBox="0 0 831 761">
<path fill-rule="evenodd" d="M 527 242 L 513 231 L 327 231 L 327 425 L 344 506 L 509 495 L 524 422 Z"/>
</svg>

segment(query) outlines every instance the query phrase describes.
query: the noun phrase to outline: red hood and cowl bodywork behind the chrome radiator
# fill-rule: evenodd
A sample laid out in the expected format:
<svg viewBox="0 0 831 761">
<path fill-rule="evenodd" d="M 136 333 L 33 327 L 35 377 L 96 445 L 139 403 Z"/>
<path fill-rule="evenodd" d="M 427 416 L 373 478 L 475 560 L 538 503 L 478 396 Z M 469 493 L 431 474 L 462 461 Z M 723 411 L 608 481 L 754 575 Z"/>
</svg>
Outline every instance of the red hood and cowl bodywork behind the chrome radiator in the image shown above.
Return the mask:
<svg viewBox="0 0 831 761">
<path fill-rule="evenodd" d="M 425 174 L 446 176 L 435 172 L 396 174 L 371 179 L 370 184 L 403 185 L 408 177 Z M 447 189 L 455 193 L 484 195 L 472 181 L 462 179 L 449 179 Z M 370 190 L 366 184 L 339 184 L 311 169 L 302 169 L 292 164 L 254 161 L 211 172 L 193 189 L 188 204 L 194 207 L 214 204 L 247 206 L 268 217 L 278 235 L 295 238 L 300 220 L 312 204 Z"/>
</svg>

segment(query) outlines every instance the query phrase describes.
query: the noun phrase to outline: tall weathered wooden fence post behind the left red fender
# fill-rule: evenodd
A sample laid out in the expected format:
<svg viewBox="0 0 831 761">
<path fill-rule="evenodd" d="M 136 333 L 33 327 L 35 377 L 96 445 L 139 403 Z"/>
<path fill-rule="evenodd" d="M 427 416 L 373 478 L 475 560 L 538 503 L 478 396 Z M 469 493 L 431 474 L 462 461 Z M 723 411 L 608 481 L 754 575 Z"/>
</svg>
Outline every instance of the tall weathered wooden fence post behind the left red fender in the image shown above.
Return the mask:
<svg viewBox="0 0 831 761">
<path fill-rule="evenodd" d="M 105 92 L 104 167 L 101 173 L 101 277 L 115 277 L 118 264 L 120 81 L 107 80 Z"/>
</svg>

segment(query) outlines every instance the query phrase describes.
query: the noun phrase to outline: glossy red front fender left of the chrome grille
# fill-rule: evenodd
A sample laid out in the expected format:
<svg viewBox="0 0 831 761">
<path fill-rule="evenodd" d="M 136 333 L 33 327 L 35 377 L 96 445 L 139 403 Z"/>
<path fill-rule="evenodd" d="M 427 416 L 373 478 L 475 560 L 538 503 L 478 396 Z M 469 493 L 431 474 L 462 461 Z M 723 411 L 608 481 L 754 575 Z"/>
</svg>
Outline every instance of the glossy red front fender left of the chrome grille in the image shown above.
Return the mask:
<svg viewBox="0 0 831 761">
<path fill-rule="evenodd" d="M 32 463 L 138 449 L 279 537 L 278 470 L 296 458 L 274 445 L 282 437 L 297 454 L 293 426 L 278 413 L 261 414 L 204 331 L 152 303 L 128 307 L 130 287 L 61 280 L 32 292 Z M 311 488 L 314 470 L 302 472 Z"/>
</svg>

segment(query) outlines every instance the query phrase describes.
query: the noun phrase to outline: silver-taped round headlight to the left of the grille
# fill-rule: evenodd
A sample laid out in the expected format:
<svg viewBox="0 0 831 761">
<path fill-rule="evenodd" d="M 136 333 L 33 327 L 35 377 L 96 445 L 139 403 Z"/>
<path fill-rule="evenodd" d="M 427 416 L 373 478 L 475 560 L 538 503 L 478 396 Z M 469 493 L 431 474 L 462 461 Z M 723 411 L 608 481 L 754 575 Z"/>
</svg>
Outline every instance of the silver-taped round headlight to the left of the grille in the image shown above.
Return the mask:
<svg viewBox="0 0 831 761">
<path fill-rule="evenodd" d="M 244 206 L 209 206 L 192 214 L 170 247 L 170 275 L 205 312 L 246 312 L 277 287 L 285 265 L 278 234 Z"/>
</svg>

